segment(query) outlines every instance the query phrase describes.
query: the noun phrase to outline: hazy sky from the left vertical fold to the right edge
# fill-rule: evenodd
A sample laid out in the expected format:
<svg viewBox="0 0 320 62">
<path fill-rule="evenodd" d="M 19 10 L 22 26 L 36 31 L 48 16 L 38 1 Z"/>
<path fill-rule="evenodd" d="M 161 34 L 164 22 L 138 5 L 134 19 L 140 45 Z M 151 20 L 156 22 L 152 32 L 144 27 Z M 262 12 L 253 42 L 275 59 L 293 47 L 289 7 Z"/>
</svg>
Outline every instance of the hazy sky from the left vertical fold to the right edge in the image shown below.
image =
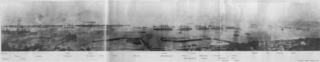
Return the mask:
<svg viewBox="0 0 320 62">
<path fill-rule="evenodd" d="M 227 24 L 319 21 L 317 1 L 110 0 L 109 20 L 124 24 Z M 246 25 L 243 25 L 246 24 Z"/>
</svg>

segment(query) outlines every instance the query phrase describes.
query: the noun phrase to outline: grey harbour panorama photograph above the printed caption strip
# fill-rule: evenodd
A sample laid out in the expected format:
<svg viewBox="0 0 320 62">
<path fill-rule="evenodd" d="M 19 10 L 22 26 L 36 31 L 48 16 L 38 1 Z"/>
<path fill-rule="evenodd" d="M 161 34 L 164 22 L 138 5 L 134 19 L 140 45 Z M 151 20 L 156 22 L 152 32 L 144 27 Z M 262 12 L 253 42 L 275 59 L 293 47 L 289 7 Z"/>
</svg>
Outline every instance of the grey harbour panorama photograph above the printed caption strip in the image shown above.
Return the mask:
<svg viewBox="0 0 320 62">
<path fill-rule="evenodd" d="M 1 51 L 320 50 L 320 3 L 1 1 Z"/>
</svg>

